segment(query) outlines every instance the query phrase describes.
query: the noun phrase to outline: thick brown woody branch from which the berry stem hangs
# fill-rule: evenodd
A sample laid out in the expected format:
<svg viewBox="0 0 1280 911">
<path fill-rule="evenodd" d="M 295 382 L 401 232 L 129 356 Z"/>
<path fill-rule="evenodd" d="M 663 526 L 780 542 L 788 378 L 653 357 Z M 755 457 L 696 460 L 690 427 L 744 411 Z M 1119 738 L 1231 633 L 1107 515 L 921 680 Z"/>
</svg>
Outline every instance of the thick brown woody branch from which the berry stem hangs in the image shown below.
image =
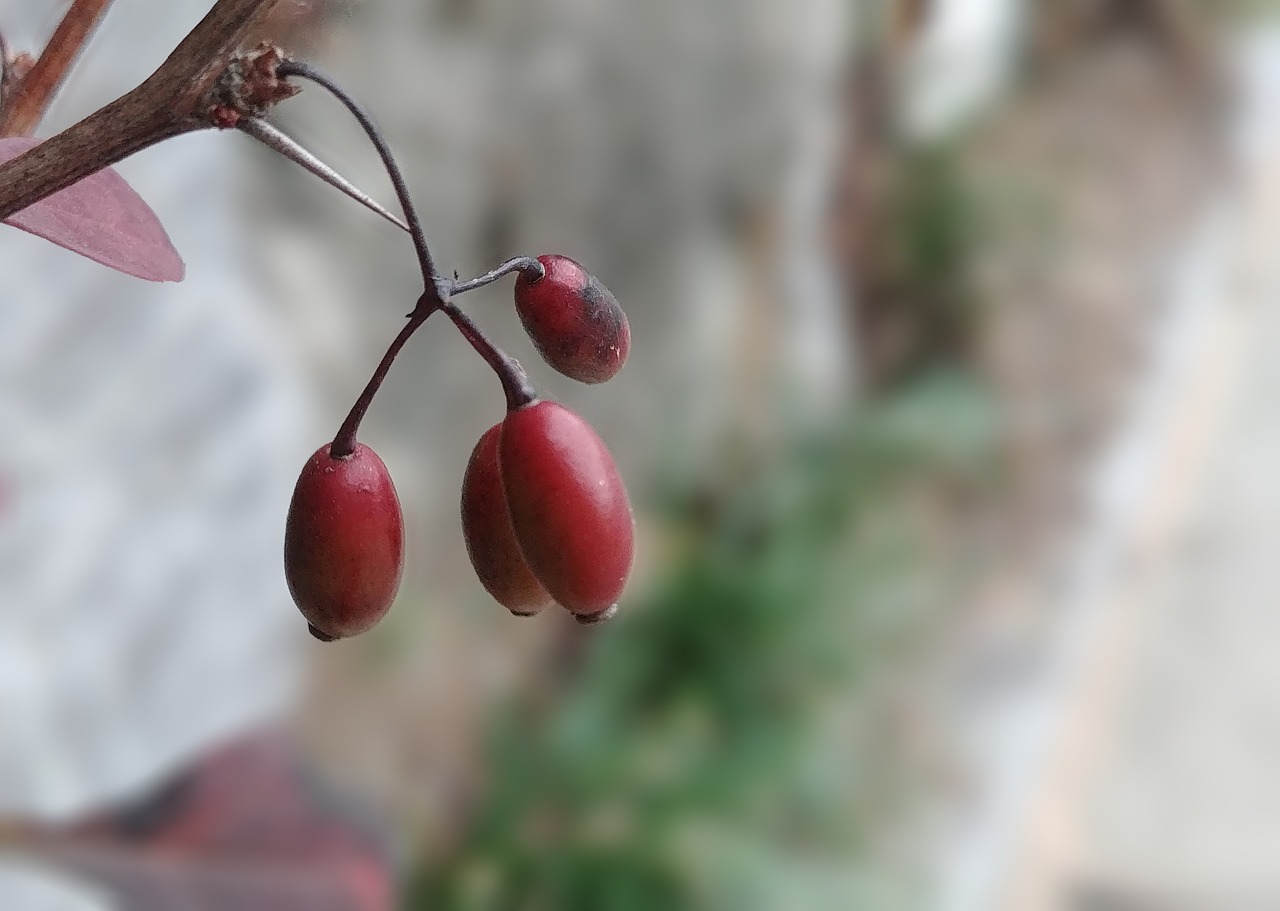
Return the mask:
<svg viewBox="0 0 1280 911">
<path fill-rule="evenodd" d="M 215 125 L 207 96 L 279 0 L 218 0 L 141 86 L 0 165 L 0 219 L 157 142 Z"/>
</svg>

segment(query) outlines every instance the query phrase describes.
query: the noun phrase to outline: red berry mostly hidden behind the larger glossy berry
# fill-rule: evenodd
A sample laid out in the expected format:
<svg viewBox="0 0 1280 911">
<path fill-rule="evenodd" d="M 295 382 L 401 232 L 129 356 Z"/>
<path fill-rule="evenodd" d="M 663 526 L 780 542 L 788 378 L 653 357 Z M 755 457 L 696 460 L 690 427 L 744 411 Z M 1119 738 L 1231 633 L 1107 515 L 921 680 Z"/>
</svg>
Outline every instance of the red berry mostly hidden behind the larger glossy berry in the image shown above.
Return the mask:
<svg viewBox="0 0 1280 911">
<path fill-rule="evenodd" d="M 517 617 L 532 617 L 552 596 L 520 555 L 498 470 L 502 425 L 485 431 L 462 476 L 462 539 L 480 585 Z"/>
</svg>

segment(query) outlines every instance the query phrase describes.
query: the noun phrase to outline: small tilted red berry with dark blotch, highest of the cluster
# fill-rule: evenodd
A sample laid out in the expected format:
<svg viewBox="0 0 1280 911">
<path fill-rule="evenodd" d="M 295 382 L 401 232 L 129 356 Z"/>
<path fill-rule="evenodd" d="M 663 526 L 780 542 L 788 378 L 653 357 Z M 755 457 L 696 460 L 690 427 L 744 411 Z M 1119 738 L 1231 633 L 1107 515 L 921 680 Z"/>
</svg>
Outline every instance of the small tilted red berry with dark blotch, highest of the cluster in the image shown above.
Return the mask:
<svg viewBox="0 0 1280 911">
<path fill-rule="evenodd" d="M 613 379 L 631 351 L 631 326 L 617 298 L 567 256 L 538 261 L 543 278 L 516 278 L 516 312 L 538 353 L 580 383 Z"/>
</svg>

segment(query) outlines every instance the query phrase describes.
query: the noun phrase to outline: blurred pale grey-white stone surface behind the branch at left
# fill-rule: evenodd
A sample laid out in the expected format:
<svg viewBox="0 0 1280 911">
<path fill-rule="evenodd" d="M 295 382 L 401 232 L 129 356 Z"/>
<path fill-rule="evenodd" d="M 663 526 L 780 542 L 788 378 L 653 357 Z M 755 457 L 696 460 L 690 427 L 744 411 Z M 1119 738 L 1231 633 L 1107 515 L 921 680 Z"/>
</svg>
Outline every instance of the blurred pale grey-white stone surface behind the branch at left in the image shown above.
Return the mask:
<svg viewBox="0 0 1280 911">
<path fill-rule="evenodd" d="M 131 88 L 207 6 L 115 3 L 40 132 Z M 61 12 L 4 0 L 0 26 L 38 49 Z M 279 555 L 314 443 L 246 267 L 243 155 L 202 134 L 120 166 L 186 257 L 182 284 L 4 229 L 0 815 L 136 796 L 296 692 L 306 633 Z"/>
</svg>

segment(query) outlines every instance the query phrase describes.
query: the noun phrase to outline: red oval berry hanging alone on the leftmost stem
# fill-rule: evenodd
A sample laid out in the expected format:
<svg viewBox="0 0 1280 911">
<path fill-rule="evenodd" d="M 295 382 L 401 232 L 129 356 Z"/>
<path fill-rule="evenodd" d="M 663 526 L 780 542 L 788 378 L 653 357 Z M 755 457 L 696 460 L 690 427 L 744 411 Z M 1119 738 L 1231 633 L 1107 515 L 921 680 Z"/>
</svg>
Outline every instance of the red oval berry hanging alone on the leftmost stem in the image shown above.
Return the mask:
<svg viewBox="0 0 1280 911">
<path fill-rule="evenodd" d="M 396 600 L 404 569 L 404 517 L 387 466 L 357 443 L 307 461 L 284 525 L 284 577 L 311 635 L 365 632 Z"/>
</svg>

